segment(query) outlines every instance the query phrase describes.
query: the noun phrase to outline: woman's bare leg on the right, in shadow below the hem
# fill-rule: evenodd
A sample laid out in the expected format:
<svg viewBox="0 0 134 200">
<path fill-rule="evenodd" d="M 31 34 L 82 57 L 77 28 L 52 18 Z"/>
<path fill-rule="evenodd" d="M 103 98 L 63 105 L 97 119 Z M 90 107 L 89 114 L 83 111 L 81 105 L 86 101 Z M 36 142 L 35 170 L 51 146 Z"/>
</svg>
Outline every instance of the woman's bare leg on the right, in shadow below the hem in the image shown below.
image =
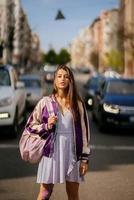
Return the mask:
<svg viewBox="0 0 134 200">
<path fill-rule="evenodd" d="M 79 200 L 79 183 L 66 181 L 68 200 Z"/>
</svg>

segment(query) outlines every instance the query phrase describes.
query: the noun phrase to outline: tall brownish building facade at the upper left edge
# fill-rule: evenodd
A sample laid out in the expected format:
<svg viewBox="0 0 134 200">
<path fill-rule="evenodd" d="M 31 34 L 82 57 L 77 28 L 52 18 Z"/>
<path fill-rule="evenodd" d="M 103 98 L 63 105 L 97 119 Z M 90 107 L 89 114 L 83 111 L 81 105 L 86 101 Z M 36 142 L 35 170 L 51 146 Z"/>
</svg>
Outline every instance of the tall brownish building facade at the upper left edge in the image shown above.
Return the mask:
<svg viewBox="0 0 134 200">
<path fill-rule="evenodd" d="M 0 61 L 11 63 L 16 67 L 31 66 L 34 40 L 33 33 L 27 20 L 20 0 L 0 1 Z M 36 54 L 41 54 L 38 37 Z M 39 57 L 39 56 L 38 56 Z M 37 59 L 37 64 L 39 60 Z M 34 61 L 35 65 L 35 61 Z"/>
</svg>

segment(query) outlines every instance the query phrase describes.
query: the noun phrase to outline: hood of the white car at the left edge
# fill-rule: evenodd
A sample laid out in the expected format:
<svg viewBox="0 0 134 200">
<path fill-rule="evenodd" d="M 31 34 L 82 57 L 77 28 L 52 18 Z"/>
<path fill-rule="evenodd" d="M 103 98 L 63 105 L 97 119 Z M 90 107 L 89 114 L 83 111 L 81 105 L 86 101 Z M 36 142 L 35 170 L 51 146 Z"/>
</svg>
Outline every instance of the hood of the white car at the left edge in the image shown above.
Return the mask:
<svg viewBox="0 0 134 200">
<path fill-rule="evenodd" d="M 13 88 L 8 86 L 0 86 L 0 100 L 13 95 Z"/>
</svg>

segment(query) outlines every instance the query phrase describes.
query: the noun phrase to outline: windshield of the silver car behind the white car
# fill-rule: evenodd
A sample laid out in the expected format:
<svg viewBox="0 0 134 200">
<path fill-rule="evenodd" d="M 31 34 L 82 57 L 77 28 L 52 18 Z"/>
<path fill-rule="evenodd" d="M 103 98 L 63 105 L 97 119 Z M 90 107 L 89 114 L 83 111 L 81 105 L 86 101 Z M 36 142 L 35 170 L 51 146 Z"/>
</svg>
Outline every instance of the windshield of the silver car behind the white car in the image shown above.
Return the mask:
<svg viewBox="0 0 134 200">
<path fill-rule="evenodd" d="M 35 79 L 21 79 L 24 84 L 25 87 L 28 88 L 40 88 L 41 87 L 41 83 L 39 80 L 35 80 Z"/>
</svg>

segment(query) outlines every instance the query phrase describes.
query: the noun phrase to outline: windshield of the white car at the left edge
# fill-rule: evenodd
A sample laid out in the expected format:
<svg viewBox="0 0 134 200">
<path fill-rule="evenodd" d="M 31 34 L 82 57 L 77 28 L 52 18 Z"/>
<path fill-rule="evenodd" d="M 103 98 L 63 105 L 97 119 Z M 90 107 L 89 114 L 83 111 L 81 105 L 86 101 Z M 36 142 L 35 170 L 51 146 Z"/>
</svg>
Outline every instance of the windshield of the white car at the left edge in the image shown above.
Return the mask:
<svg viewBox="0 0 134 200">
<path fill-rule="evenodd" d="M 0 86 L 10 86 L 11 81 L 9 77 L 9 73 L 6 69 L 0 69 Z"/>
</svg>

